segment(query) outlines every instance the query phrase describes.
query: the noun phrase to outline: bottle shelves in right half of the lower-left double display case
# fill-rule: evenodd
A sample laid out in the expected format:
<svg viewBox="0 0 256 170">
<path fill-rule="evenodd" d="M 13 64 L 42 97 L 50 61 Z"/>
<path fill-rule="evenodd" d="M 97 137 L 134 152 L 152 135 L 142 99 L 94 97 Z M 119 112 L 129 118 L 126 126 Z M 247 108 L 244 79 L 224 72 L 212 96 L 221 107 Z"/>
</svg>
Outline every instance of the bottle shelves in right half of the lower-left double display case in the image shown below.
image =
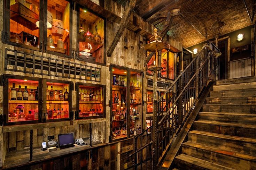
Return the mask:
<svg viewBox="0 0 256 170">
<path fill-rule="evenodd" d="M 46 83 L 46 119 L 69 118 L 69 84 Z"/>
</svg>

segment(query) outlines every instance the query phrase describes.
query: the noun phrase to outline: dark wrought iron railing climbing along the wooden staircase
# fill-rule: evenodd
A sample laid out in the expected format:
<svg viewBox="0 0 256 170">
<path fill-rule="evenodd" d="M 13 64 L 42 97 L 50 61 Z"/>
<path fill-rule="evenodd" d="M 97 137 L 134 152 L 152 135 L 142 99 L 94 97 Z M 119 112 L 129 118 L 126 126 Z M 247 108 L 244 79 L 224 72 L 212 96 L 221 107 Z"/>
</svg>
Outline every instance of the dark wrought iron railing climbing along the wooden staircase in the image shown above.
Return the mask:
<svg viewBox="0 0 256 170">
<path fill-rule="evenodd" d="M 165 152 L 178 135 L 180 129 L 185 124 L 187 117 L 192 112 L 198 96 L 207 86 L 210 80 L 219 79 L 219 56 L 221 53 L 215 45 L 209 42 L 204 45 L 197 56 L 189 63 L 184 71 L 180 71 L 179 76 L 162 94 L 154 101 L 152 141 L 147 142 L 152 149 L 152 169 L 156 169 L 162 160 Z M 142 140 L 138 144 L 140 134 L 134 137 L 134 168 L 143 162 L 138 161 L 139 152 L 145 150 L 146 145 L 142 145 Z M 152 146 L 153 145 L 153 146 Z M 142 149 L 143 148 L 143 149 Z M 145 159 L 144 159 L 145 160 Z M 138 163 L 139 162 L 139 163 Z"/>
</svg>

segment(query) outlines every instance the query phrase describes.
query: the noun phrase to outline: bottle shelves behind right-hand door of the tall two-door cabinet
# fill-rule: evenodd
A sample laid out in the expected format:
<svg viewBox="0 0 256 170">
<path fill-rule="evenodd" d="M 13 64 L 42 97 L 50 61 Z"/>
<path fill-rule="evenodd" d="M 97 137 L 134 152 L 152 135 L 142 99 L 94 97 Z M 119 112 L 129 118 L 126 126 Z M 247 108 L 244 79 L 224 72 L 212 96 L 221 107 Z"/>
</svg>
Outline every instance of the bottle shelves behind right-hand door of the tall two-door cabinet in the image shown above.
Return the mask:
<svg viewBox="0 0 256 170">
<path fill-rule="evenodd" d="M 142 74 L 130 72 L 130 136 L 141 133 Z"/>
</svg>

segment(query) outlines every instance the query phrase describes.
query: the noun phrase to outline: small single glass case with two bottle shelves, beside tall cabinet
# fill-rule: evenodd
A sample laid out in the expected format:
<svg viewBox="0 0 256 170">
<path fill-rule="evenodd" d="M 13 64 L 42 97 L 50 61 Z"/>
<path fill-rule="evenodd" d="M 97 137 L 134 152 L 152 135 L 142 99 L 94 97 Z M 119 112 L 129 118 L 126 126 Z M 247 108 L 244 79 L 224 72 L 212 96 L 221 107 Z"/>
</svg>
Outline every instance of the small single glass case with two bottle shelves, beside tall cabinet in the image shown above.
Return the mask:
<svg viewBox="0 0 256 170">
<path fill-rule="evenodd" d="M 102 87 L 79 85 L 79 118 L 103 116 L 103 101 Z"/>
</svg>

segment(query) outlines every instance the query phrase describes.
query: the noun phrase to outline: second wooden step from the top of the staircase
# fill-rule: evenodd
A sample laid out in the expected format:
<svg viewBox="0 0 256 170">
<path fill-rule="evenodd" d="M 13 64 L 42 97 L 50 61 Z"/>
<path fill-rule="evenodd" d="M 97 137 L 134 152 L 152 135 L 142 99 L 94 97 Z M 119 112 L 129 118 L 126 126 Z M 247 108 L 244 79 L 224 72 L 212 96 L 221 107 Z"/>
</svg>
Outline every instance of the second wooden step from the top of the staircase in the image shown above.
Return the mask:
<svg viewBox="0 0 256 170">
<path fill-rule="evenodd" d="M 241 89 L 248 89 L 248 88 L 256 88 L 256 82 L 214 85 L 213 90 L 214 91 L 230 90 L 230 89 L 241 90 Z"/>
</svg>

